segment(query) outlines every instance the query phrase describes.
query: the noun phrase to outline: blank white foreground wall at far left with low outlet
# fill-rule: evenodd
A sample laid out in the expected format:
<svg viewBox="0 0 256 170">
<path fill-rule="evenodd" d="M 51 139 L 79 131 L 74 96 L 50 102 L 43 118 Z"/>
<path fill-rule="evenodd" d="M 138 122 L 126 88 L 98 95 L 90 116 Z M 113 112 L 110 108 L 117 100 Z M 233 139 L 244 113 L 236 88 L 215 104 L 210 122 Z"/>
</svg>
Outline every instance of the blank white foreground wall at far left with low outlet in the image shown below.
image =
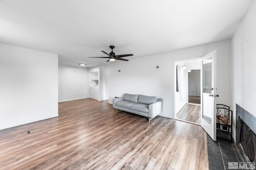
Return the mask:
<svg viewBox="0 0 256 170">
<path fill-rule="evenodd" d="M 0 43 L 0 129 L 57 116 L 58 55 Z"/>
</svg>

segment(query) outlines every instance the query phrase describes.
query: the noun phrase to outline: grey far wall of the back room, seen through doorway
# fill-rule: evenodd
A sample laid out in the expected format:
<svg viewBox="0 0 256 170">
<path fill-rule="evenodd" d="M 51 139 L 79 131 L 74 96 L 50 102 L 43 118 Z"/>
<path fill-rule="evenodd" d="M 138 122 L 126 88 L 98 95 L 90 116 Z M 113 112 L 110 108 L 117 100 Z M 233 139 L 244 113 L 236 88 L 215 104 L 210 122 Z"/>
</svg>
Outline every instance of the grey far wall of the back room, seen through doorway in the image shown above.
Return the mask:
<svg viewBox="0 0 256 170">
<path fill-rule="evenodd" d="M 188 95 L 200 96 L 200 70 L 191 70 L 188 73 Z"/>
</svg>

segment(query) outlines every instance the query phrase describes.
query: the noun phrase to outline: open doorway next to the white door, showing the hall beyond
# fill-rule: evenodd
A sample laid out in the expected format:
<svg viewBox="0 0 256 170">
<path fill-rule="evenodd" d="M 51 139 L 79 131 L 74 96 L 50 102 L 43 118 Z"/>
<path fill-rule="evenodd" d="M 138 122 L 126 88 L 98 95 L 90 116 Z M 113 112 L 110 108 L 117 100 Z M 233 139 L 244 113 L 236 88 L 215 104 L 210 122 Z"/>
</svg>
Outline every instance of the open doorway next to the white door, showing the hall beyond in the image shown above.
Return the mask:
<svg viewBox="0 0 256 170">
<path fill-rule="evenodd" d="M 176 119 L 200 125 L 200 59 L 176 61 Z"/>
</svg>

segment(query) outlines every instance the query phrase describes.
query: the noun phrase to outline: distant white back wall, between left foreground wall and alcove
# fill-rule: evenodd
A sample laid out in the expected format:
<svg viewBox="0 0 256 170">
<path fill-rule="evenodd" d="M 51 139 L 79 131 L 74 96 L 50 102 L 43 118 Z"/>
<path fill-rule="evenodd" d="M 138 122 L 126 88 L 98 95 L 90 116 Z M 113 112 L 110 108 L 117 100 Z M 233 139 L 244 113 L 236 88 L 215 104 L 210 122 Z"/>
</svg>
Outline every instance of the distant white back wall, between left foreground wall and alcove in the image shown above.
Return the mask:
<svg viewBox="0 0 256 170">
<path fill-rule="evenodd" d="M 82 66 L 59 65 L 58 101 L 88 98 L 88 69 Z"/>
</svg>

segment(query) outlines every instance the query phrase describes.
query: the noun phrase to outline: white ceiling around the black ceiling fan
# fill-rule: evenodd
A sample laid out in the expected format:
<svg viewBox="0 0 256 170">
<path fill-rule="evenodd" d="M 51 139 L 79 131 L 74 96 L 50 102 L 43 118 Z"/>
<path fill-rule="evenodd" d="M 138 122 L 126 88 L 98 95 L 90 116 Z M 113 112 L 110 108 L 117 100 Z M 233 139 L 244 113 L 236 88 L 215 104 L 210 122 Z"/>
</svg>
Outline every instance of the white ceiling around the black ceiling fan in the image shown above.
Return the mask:
<svg viewBox="0 0 256 170">
<path fill-rule="evenodd" d="M 108 65 L 88 57 L 107 57 L 109 45 L 133 59 L 229 39 L 252 1 L 0 0 L 0 43 L 56 53 L 61 64 Z"/>
</svg>

